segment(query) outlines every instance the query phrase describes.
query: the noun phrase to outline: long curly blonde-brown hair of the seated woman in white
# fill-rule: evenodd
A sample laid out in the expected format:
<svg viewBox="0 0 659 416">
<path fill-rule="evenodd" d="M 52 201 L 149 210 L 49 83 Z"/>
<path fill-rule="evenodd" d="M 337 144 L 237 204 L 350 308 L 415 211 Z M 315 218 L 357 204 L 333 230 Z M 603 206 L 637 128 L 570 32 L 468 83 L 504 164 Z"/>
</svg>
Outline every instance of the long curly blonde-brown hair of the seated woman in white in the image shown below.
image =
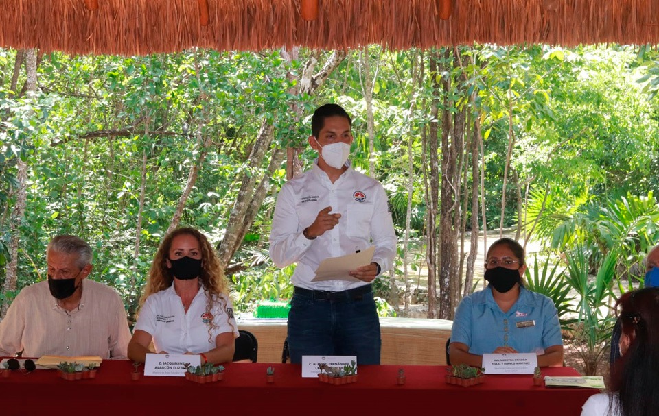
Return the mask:
<svg viewBox="0 0 659 416">
<path fill-rule="evenodd" d="M 167 268 L 166 260 L 169 257 L 174 238 L 184 234 L 193 236 L 199 242 L 202 259 L 199 280 L 206 293 L 206 309 L 210 311 L 213 304 L 220 302 L 222 310 L 226 310 L 227 302 L 220 295 L 227 295 L 229 297 L 229 280 L 224 276 L 224 271 L 220 267 L 220 260 L 216 255 L 215 249 L 209 243 L 208 238 L 198 230 L 189 227 L 176 228 L 176 230 L 167 234 L 163 238 L 163 241 L 161 241 L 160 247 L 158 247 L 158 251 L 151 262 L 144 292 L 139 299 L 140 309 L 144 302 L 146 302 L 147 297 L 172 286 L 174 276 L 172 275 L 172 271 Z M 214 321 L 215 319 L 209 321 L 209 335 L 211 329 L 218 327 Z"/>
</svg>

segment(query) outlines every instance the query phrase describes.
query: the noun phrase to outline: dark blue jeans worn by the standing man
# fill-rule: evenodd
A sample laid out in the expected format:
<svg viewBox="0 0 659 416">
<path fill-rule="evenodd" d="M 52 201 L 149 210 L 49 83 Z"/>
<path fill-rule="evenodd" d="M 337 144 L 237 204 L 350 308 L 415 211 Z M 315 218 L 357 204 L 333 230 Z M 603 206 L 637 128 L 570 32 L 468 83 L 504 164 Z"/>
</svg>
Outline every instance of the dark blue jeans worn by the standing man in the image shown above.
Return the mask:
<svg viewBox="0 0 659 416">
<path fill-rule="evenodd" d="M 302 363 L 303 355 L 354 355 L 358 365 L 380 364 L 381 345 L 373 292 L 344 300 L 293 295 L 288 313 L 291 363 Z"/>
</svg>

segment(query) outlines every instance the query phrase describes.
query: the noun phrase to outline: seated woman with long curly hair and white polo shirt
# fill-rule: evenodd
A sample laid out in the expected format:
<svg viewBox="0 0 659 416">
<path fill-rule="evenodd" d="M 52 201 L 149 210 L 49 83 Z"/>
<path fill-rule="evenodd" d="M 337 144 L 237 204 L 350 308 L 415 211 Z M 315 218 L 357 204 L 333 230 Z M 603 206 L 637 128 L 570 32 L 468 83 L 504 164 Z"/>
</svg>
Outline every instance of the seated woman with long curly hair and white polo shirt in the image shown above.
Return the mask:
<svg viewBox="0 0 659 416">
<path fill-rule="evenodd" d="M 238 327 L 213 246 L 194 228 L 167 234 L 151 263 L 128 358 L 143 363 L 161 354 L 199 354 L 202 363 L 231 361 Z"/>
</svg>

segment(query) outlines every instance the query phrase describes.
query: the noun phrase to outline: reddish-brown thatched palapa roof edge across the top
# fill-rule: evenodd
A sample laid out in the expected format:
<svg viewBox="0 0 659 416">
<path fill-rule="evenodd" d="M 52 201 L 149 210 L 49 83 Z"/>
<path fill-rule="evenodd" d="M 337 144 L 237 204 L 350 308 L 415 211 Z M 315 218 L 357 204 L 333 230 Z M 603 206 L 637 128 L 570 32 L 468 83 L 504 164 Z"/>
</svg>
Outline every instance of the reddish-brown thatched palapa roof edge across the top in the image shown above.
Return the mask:
<svg viewBox="0 0 659 416">
<path fill-rule="evenodd" d="M 0 19 L 1 47 L 72 54 L 659 43 L 659 0 L 0 0 Z"/>
</svg>

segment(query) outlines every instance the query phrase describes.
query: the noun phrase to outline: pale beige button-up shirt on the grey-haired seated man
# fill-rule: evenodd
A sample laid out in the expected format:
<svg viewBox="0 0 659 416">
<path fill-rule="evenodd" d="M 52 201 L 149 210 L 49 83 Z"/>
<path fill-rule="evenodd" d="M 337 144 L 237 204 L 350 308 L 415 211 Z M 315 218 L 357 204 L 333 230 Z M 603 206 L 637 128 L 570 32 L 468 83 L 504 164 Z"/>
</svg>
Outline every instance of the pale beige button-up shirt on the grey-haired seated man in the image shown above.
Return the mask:
<svg viewBox="0 0 659 416">
<path fill-rule="evenodd" d="M 80 305 L 60 308 L 48 282 L 25 287 L 0 321 L 0 355 L 126 359 L 130 330 L 124 302 L 105 284 L 82 280 Z"/>
</svg>

